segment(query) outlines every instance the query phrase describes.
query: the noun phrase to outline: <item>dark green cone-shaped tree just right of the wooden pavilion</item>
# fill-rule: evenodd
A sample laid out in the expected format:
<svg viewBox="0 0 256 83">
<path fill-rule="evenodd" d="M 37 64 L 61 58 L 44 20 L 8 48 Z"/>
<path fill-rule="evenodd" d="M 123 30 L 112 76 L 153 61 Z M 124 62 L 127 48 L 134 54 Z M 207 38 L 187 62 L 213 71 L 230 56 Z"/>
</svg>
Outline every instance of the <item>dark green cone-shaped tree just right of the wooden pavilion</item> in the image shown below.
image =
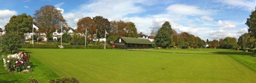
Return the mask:
<svg viewBox="0 0 256 83">
<path fill-rule="evenodd" d="M 172 27 L 168 21 L 164 22 L 161 28 L 158 29 L 155 37 L 155 42 L 158 46 L 166 48 L 171 45 Z"/>
</svg>

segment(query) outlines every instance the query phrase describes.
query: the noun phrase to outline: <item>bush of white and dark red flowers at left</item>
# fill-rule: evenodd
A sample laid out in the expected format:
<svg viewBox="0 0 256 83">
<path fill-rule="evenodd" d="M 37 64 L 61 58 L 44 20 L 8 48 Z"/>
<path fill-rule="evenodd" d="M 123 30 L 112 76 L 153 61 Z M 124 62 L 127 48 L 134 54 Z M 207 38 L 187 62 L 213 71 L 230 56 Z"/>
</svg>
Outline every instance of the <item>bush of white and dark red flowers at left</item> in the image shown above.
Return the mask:
<svg viewBox="0 0 256 83">
<path fill-rule="evenodd" d="M 30 56 L 23 51 L 17 54 L 8 55 L 6 58 L 2 57 L 4 61 L 4 68 L 8 72 L 30 72 L 32 70 L 29 62 Z"/>
</svg>

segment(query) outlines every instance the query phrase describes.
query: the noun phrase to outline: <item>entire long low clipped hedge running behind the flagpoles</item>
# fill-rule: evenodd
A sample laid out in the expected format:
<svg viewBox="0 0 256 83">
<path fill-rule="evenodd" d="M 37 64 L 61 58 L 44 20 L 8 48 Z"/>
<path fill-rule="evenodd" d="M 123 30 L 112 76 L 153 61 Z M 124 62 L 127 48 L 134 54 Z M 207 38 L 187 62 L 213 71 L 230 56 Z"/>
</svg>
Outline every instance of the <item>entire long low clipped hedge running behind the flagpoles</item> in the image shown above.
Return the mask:
<svg viewBox="0 0 256 83">
<path fill-rule="evenodd" d="M 84 49 L 84 45 L 62 45 L 64 49 Z M 59 48 L 58 45 L 51 44 L 21 44 L 22 48 Z M 86 46 L 86 49 L 104 49 L 104 46 Z M 106 46 L 106 49 L 112 49 L 112 46 Z"/>
</svg>

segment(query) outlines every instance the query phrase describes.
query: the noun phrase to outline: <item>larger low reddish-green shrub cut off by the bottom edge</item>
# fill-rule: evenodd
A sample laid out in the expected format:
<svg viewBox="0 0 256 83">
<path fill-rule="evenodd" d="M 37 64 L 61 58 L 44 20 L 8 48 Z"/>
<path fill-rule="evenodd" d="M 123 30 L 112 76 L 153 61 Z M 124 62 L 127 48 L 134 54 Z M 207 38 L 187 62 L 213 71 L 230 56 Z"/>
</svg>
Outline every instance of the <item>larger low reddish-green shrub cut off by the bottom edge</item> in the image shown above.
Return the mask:
<svg viewBox="0 0 256 83">
<path fill-rule="evenodd" d="M 52 79 L 50 83 L 79 83 L 79 80 L 77 80 L 74 77 L 71 78 L 58 78 L 58 79 Z"/>
</svg>

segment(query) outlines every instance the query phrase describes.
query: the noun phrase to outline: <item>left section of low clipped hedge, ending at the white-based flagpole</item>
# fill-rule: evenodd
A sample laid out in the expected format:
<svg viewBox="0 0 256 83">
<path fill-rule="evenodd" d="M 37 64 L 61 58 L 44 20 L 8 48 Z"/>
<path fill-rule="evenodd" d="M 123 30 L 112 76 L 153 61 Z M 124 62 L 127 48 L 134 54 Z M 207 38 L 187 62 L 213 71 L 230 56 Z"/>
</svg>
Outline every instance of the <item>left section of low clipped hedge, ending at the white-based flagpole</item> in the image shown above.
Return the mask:
<svg viewBox="0 0 256 83">
<path fill-rule="evenodd" d="M 34 44 L 34 47 L 32 44 L 21 44 L 22 48 L 51 48 L 51 49 L 57 49 L 58 45 L 51 45 L 51 44 Z"/>
</svg>

